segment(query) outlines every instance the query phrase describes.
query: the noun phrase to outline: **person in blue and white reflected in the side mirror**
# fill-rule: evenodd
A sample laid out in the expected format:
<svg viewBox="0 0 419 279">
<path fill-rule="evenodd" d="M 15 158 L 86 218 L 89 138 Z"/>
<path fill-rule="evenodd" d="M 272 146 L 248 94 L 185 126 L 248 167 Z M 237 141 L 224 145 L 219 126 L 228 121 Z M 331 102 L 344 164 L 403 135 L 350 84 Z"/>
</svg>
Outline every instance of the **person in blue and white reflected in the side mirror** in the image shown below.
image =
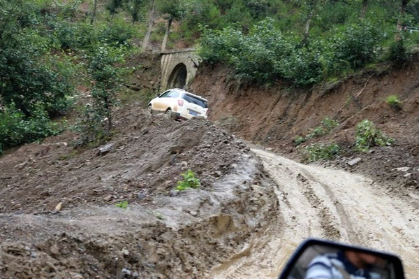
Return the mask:
<svg viewBox="0 0 419 279">
<path fill-rule="evenodd" d="M 309 263 L 304 279 L 381 279 L 372 271 L 380 257 L 352 250 L 318 255 Z"/>
</svg>

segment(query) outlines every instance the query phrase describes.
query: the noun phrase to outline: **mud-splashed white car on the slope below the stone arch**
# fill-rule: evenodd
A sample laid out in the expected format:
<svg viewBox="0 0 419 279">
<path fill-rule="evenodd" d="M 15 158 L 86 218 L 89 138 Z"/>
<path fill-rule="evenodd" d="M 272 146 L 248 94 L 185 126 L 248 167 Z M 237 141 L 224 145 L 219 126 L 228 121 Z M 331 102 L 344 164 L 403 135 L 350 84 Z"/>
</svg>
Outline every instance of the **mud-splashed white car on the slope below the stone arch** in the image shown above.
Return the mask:
<svg viewBox="0 0 419 279">
<path fill-rule="evenodd" d="M 188 120 L 192 117 L 207 118 L 207 99 L 182 89 L 167 90 L 148 104 L 151 113 L 166 113 L 175 120 Z"/>
</svg>

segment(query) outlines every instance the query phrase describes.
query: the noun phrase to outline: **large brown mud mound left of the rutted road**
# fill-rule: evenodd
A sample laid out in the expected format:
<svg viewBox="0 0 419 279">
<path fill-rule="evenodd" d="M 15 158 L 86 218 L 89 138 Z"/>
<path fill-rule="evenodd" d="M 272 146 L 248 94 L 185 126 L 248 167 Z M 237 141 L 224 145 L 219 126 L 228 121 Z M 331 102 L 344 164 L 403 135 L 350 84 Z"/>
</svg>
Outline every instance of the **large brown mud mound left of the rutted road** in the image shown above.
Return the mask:
<svg viewBox="0 0 419 279">
<path fill-rule="evenodd" d="M 67 132 L 0 158 L 0 278 L 202 278 L 277 222 L 260 162 L 211 122 L 133 104 L 115 129 L 108 152 Z M 200 189 L 175 191 L 189 169 Z"/>
</svg>

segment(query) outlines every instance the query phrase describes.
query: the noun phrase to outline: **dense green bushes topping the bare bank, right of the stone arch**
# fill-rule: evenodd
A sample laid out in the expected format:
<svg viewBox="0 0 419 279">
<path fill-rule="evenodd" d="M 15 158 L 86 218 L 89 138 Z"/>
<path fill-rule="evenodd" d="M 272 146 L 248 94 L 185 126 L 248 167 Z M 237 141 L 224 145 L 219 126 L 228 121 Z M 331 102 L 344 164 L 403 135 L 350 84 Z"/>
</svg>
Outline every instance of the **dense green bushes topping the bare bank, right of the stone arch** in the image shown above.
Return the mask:
<svg viewBox="0 0 419 279">
<path fill-rule="evenodd" d="M 204 28 L 200 55 L 211 64 L 230 64 L 237 78 L 251 83 L 282 78 L 311 85 L 372 62 L 384 40 L 379 30 L 377 22 L 362 20 L 302 44 L 295 34 L 284 34 L 267 18 L 253 24 L 247 34 L 239 27 Z"/>
</svg>

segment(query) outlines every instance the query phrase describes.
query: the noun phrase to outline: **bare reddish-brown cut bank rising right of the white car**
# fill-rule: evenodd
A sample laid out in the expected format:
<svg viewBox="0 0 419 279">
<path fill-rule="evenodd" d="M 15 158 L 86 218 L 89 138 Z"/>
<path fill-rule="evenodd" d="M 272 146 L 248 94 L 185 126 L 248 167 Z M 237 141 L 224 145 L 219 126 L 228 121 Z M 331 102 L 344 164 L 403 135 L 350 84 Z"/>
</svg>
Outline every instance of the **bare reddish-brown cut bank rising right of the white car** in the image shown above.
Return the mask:
<svg viewBox="0 0 419 279">
<path fill-rule="evenodd" d="M 418 59 L 416 55 L 402 69 L 382 65 L 337 83 L 299 89 L 286 84 L 240 88 L 228 81 L 229 73 L 222 67 L 204 67 L 191 90 L 210 100 L 211 120 L 247 141 L 300 160 L 304 159 L 305 146 L 311 143 L 337 143 L 341 154 L 323 164 L 367 174 L 396 192 L 406 188 L 418 191 Z M 392 94 L 402 101 L 401 110 L 386 103 Z M 325 117 L 337 120 L 339 125 L 330 134 L 295 145 L 297 136 L 309 134 Z M 356 125 L 365 119 L 374 122 L 395 143 L 355 152 Z M 348 166 L 356 157 L 362 160 Z M 397 168 L 408 169 L 404 172 Z"/>
</svg>

